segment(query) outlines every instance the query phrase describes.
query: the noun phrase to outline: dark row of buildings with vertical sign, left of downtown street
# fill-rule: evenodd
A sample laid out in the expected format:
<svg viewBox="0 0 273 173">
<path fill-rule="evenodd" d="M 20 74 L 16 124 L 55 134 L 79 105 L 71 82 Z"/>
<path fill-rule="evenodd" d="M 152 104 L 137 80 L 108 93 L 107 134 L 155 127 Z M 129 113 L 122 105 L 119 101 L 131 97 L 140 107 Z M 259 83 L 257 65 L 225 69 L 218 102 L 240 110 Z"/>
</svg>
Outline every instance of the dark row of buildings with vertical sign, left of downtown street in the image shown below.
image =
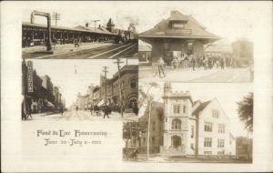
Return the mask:
<svg viewBox="0 0 273 173">
<path fill-rule="evenodd" d="M 50 76 L 38 76 L 32 61 L 22 62 L 22 95 L 22 107 L 31 110 L 31 113 L 55 111 L 63 107 L 65 101 Z"/>
</svg>

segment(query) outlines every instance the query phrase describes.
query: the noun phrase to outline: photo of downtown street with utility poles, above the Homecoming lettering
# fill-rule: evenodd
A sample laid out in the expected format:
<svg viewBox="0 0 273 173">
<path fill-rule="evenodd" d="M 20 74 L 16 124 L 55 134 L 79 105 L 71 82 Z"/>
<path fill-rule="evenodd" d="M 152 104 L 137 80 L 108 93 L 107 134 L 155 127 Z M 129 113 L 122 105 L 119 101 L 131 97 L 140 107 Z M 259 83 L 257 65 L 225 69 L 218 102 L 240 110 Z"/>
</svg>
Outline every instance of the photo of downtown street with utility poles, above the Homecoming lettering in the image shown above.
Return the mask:
<svg viewBox="0 0 273 173">
<path fill-rule="evenodd" d="M 137 59 L 24 60 L 22 67 L 24 121 L 137 121 Z"/>
</svg>

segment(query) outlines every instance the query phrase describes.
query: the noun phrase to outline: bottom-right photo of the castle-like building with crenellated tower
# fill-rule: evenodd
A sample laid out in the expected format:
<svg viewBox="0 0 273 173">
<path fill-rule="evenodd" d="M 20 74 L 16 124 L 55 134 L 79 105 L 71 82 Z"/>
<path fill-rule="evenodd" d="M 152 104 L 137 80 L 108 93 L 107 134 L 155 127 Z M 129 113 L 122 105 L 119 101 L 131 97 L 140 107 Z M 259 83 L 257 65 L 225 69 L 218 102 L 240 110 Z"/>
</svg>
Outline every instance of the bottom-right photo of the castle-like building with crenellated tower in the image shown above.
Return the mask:
<svg viewBox="0 0 273 173">
<path fill-rule="evenodd" d="M 252 90 L 248 83 L 140 82 L 138 122 L 123 127 L 124 160 L 251 163 Z"/>
</svg>

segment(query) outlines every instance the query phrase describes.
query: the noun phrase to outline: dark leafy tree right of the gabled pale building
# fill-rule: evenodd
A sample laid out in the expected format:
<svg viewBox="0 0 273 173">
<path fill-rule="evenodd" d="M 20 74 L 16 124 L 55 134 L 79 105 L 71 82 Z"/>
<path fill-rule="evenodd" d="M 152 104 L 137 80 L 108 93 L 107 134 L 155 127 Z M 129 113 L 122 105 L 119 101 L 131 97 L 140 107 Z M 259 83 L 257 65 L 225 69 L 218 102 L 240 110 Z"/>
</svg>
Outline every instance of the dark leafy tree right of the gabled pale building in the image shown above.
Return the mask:
<svg viewBox="0 0 273 173">
<path fill-rule="evenodd" d="M 248 96 L 244 97 L 242 101 L 238 102 L 238 115 L 248 131 L 253 131 L 253 93 L 250 92 Z"/>
</svg>

